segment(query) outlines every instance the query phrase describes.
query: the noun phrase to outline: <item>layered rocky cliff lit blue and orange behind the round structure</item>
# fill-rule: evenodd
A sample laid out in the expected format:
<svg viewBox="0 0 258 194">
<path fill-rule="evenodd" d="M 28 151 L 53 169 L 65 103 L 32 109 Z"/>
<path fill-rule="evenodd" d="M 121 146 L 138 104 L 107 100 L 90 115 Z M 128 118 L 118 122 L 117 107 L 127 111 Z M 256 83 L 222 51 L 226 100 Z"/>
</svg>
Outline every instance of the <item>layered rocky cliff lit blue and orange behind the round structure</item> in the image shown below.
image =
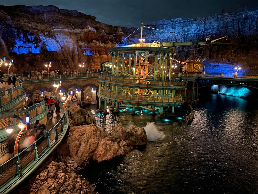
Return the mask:
<svg viewBox="0 0 258 194">
<path fill-rule="evenodd" d="M 180 47 L 176 59 L 184 61 L 202 53 L 206 67 L 241 65 L 241 73 L 258 73 L 257 15 L 258 11 L 249 11 L 159 20 L 145 26 L 163 31 L 144 28 L 143 38 L 146 42 L 183 42 L 227 35 L 227 41 L 222 42 L 232 45 L 214 44 L 196 50 Z M 0 57 L 14 59 L 11 71 L 15 73 L 45 69 L 44 63 L 50 61 L 51 70 L 77 70 L 82 62 L 90 69 L 99 69 L 102 63 L 111 61 L 109 48 L 138 43 L 141 37 L 138 30 L 125 39 L 137 28 L 111 26 L 96 21 L 94 16 L 51 5 L 0 6 L 0 21 Z"/>
</svg>

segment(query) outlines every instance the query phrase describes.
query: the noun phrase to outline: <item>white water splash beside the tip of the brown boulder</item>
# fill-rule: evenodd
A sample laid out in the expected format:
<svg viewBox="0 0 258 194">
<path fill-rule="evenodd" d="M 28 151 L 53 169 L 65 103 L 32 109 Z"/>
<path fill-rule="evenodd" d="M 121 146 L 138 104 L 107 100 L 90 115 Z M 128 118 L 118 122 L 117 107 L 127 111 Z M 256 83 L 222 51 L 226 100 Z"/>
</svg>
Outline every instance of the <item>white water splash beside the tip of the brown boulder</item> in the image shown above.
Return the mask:
<svg viewBox="0 0 258 194">
<path fill-rule="evenodd" d="M 156 128 L 155 122 L 147 122 L 147 125 L 144 127 L 144 129 L 146 131 L 147 140 L 149 141 L 163 139 L 165 137 L 165 134 Z"/>
</svg>

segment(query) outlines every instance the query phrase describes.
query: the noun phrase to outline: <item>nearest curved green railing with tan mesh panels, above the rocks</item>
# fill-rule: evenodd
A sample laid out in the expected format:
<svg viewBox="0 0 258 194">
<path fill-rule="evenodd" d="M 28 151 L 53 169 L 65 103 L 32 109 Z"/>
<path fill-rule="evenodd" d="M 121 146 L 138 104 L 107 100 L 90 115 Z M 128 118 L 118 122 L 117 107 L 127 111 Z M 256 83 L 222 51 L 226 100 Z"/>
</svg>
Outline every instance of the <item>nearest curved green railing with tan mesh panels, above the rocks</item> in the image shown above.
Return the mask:
<svg viewBox="0 0 258 194">
<path fill-rule="evenodd" d="M 61 103 L 63 102 L 61 101 Z M 47 156 L 61 143 L 67 128 L 68 116 L 64 113 L 52 129 L 2 164 L 0 166 L 0 193 L 11 192 L 37 169 Z"/>
</svg>

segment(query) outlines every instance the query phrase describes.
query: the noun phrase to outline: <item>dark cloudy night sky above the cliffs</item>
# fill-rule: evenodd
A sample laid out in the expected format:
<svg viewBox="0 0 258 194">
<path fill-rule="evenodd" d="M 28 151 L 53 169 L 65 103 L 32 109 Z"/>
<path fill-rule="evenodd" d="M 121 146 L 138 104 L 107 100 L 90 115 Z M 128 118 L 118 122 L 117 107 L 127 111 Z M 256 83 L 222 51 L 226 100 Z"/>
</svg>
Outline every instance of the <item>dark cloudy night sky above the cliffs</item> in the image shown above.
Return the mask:
<svg viewBox="0 0 258 194">
<path fill-rule="evenodd" d="M 161 19 L 195 18 L 221 14 L 222 8 L 236 10 L 237 5 L 257 4 L 257 0 L 1 0 L 0 5 L 54 5 L 95 16 L 97 21 L 112 26 L 140 27 Z"/>
</svg>

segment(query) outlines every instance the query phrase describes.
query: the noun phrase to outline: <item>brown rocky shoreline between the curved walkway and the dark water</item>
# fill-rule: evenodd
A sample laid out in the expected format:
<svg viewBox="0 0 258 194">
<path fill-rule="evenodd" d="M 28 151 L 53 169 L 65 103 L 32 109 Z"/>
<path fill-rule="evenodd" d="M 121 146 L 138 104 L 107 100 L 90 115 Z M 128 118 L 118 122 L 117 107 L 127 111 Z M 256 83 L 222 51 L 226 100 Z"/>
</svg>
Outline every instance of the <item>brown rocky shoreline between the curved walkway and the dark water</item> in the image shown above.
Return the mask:
<svg viewBox="0 0 258 194">
<path fill-rule="evenodd" d="M 82 122 L 87 117 L 91 118 L 88 121 L 94 122 L 95 117 L 90 112 L 81 114 L 80 111 L 84 110 L 78 105 L 70 104 L 66 111 L 70 112 L 66 137 L 42 167 L 14 193 L 95 193 L 94 186 L 78 175 L 90 160 L 110 160 L 146 145 L 147 135 L 144 128 L 131 125 L 124 129 L 119 123 L 112 131 L 106 132 L 94 123 L 71 126 L 77 124 L 71 118 Z"/>
</svg>

